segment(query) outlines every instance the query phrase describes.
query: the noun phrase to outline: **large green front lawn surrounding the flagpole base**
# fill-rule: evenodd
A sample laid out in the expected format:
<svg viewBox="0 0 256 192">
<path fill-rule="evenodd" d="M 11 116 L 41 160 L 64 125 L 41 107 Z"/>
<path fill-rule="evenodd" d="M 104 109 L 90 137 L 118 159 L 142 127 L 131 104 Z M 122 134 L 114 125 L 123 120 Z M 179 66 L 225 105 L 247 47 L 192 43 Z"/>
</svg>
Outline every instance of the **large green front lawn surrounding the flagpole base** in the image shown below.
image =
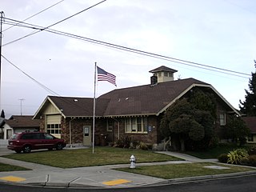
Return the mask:
<svg viewBox="0 0 256 192">
<path fill-rule="evenodd" d="M 115 147 L 95 147 L 78 150 L 32 151 L 30 154 L 10 154 L 4 158 L 12 158 L 24 162 L 35 162 L 47 166 L 72 168 L 82 166 L 103 166 L 110 164 L 130 163 L 130 155 L 134 154 L 137 162 L 166 162 L 180 160 L 165 154 L 156 154 L 149 150 L 128 150 Z"/>
</svg>

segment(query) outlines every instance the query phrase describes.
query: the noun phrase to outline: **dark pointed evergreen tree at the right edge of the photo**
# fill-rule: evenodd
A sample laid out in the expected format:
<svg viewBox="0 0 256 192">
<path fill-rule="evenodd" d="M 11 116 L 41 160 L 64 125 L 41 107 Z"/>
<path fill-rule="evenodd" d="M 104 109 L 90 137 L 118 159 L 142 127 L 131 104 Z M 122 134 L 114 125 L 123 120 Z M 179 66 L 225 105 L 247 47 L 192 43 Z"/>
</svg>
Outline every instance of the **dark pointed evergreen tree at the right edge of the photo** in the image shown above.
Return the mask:
<svg viewBox="0 0 256 192">
<path fill-rule="evenodd" d="M 256 61 L 254 60 L 254 62 L 256 68 Z M 247 116 L 256 116 L 256 72 L 251 73 L 248 86 L 249 90 L 246 90 L 245 101 L 239 101 L 239 108 L 241 112 Z"/>
</svg>

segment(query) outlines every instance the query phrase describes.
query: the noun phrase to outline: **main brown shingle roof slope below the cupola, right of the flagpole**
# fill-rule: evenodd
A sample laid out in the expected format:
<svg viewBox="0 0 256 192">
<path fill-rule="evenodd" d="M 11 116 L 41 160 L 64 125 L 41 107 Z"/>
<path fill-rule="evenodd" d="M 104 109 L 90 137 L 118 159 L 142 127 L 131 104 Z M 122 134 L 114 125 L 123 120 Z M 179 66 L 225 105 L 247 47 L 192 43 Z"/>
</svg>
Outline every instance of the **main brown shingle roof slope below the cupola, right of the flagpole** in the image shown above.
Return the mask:
<svg viewBox="0 0 256 192">
<path fill-rule="evenodd" d="M 209 85 L 194 78 L 113 90 L 99 99 L 110 99 L 104 115 L 158 114 L 193 84 Z"/>
</svg>

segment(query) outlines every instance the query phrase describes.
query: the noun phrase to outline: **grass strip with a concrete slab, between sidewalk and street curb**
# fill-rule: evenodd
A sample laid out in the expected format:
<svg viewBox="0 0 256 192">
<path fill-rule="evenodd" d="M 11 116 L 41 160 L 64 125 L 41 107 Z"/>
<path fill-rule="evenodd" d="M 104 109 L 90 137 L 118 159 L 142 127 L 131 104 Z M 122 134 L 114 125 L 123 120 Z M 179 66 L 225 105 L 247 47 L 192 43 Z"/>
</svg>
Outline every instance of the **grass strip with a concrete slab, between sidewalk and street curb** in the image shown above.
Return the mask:
<svg viewBox="0 0 256 192">
<path fill-rule="evenodd" d="M 230 167 L 226 170 L 214 170 L 206 168 L 204 166 L 225 166 Z M 144 174 L 156 178 L 186 178 L 195 177 L 202 175 L 214 175 L 214 174 L 230 174 L 249 170 L 255 170 L 248 167 L 242 166 L 228 166 L 228 165 L 218 165 L 210 162 L 198 162 L 198 163 L 182 163 L 182 164 L 172 164 L 172 165 L 162 165 L 162 166 L 138 166 L 135 169 L 130 168 L 118 168 L 115 170 L 122 170 L 134 174 Z"/>
</svg>

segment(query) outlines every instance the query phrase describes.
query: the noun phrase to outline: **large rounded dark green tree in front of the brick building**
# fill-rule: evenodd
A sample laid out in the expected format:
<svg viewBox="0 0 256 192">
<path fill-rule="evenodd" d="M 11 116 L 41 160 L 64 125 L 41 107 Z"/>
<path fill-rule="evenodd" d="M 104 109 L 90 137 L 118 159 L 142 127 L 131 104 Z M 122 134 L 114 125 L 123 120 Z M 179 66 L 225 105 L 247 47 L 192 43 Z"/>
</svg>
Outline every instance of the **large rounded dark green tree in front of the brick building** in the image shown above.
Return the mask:
<svg viewBox="0 0 256 192">
<path fill-rule="evenodd" d="M 211 117 L 210 113 L 208 115 Z M 183 98 L 166 110 L 160 123 L 160 130 L 166 137 L 171 137 L 174 150 L 184 151 L 188 141 L 202 141 L 206 133 L 212 132 L 207 129 L 213 129 L 213 126 L 205 127 L 214 124 L 213 118 L 209 117 Z"/>
</svg>

